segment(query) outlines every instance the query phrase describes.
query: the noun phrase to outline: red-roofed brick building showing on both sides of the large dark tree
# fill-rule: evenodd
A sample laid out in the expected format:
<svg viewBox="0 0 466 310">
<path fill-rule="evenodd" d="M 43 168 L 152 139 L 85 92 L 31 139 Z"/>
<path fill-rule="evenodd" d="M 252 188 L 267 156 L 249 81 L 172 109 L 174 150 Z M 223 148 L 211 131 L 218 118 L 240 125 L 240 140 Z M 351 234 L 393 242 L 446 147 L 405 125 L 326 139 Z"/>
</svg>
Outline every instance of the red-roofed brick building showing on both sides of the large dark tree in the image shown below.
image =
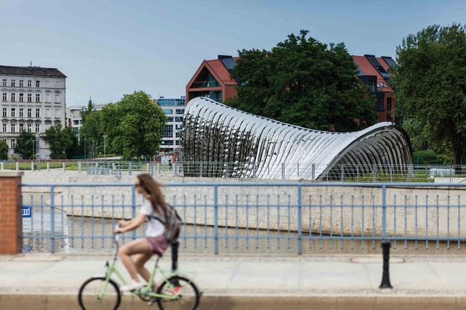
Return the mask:
<svg viewBox="0 0 466 310">
<path fill-rule="evenodd" d="M 209 97 L 218 102 L 236 97 L 237 81 L 230 73 L 237 57 L 218 55 L 218 59 L 204 60 L 186 86 L 186 102 L 195 97 Z M 390 57 L 377 58 L 374 55 L 353 56 L 358 77 L 368 85 L 368 94 L 375 96 L 374 109 L 378 121 L 394 122 L 393 90 L 388 83 L 389 67 L 396 65 Z"/>
</svg>

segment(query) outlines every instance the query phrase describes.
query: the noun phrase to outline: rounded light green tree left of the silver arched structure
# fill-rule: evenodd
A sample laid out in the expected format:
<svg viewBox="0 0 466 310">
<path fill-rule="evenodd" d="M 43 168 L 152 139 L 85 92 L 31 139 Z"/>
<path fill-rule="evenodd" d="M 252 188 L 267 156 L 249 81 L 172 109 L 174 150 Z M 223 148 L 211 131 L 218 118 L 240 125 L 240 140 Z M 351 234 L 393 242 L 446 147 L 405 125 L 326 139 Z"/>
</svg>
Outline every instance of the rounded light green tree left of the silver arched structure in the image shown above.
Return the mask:
<svg viewBox="0 0 466 310">
<path fill-rule="evenodd" d="M 166 116 L 143 91 L 124 95 L 102 109 L 107 151 L 126 159 L 152 156 L 159 149 Z"/>
</svg>

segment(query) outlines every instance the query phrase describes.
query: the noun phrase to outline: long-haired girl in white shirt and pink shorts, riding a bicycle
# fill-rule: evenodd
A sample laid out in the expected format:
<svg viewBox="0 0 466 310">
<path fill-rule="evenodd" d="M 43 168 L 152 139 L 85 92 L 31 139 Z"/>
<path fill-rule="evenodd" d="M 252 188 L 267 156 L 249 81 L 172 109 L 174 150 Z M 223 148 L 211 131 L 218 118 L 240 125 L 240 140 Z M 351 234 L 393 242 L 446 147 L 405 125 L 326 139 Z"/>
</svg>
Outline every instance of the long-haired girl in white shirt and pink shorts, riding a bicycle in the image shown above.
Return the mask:
<svg viewBox="0 0 466 310">
<path fill-rule="evenodd" d="M 161 185 L 152 179 L 148 174 L 138 175 L 135 181 L 135 189 L 138 194 L 144 196 L 144 203 L 140 209 L 140 214 L 132 220 L 119 221 L 120 227 L 114 229 L 115 234 L 124 233 L 140 227 L 147 220 L 147 230 L 145 238 L 138 238 L 121 247 L 118 255 L 123 262 L 128 273 L 133 279 L 128 285 L 121 286 L 121 291 L 131 291 L 142 288 L 145 284 L 140 281 L 138 274 L 149 281 L 149 271 L 144 264 L 157 254 L 163 255 L 168 248 L 168 242 L 164 237 L 165 227 L 157 218 L 166 218 L 166 203 L 161 192 Z M 135 260 L 131 260 L 131 255 L 137 255 Z"/>
</svg>

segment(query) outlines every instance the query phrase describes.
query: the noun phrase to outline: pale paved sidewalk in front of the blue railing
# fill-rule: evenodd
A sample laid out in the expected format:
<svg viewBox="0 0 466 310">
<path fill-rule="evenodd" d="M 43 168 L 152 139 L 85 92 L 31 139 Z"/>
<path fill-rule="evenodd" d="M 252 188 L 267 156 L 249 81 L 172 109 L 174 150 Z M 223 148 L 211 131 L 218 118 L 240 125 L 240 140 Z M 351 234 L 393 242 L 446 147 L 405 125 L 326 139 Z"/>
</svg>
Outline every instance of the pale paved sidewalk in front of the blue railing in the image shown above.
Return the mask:
<svg viewBox="0 0 466 310">
<path fill-rule="evenodd" d="M 68 296 L 75 302 L 81 283 L 103 274 L 107 258 L 0 256 L 0 309 L 8 309 L 5 305 L 13 303 L 21 309 L 17 302 L 25 295 L 50 300 Z M 466 309 L 466 258 L 462 257 L 392 257 L 392 290 L 378 288 L 381 255 L 187 256 L 180 257 L 179 265 L 180 271 L 193 276 L 204 292 L 201 309 L 275 309 L 273 306 L 280 302 L 286 306 L 281 304 L 277 309 Z M 152 261 L 146 266 L 152 268 Z M 162 267 L 169 269 L 169 257 Z M 123 268 L 121 264 L 119 268 Z M 253 306 L 254 302 L 258 305 Z M 77 303 L 67 309 L 74 306 Z"/>
</svg>

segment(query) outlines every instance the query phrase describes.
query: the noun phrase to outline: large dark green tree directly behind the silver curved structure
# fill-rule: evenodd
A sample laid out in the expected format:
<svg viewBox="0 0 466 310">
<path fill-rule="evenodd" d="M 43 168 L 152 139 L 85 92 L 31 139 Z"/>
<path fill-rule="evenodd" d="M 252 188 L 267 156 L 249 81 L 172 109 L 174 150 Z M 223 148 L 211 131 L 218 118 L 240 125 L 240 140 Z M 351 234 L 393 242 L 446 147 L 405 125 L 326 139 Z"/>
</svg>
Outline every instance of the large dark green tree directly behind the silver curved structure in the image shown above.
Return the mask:
<svg viewBox="0 0 466 310">
<path fill-rule="evenodd" d="M 357 79 L 344 43 L 327 46 L 301 30 L 272 50 L 239 50 L 232 77 L 246 112 L 317 130 L 357 130 L 375 122 L 373 97 Z"/>
</svg>

